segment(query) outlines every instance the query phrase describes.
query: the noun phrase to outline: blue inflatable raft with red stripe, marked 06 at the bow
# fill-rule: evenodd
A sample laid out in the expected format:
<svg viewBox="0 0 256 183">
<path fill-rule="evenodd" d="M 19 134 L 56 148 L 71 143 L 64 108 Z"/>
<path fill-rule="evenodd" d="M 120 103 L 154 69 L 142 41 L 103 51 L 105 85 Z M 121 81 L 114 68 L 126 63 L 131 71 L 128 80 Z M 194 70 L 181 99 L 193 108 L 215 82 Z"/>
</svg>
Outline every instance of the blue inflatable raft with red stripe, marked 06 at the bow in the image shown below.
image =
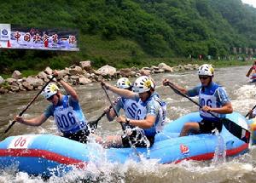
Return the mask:
<svg viewBox="0 0 256 183">
<path fill-rule="evenodd" d="M 230 120 L 247 126 L 244 117 L 233 112 L 227 115 Z M 248 151 L 248 144 L 237 139 L 223 128 L 220 135 L 193 134 L 178 137 L 183 124 L 200 121 L 198 112 L 189 113 L 167 123 L 165 129 L 157 134 L 154 146 L 137 148 L 140 157 L 157 159 L 159 163 L 178 163 L 183 160 L 210 160 L 221 146 L 226 157 L 234 157 Z M 104 158 L 102 158 L 104 157 Z M 86 169 L 88 163 L 125 163 L 129 159 L 139 161 L 132 148 L 103 149 L 96 143 L 81 144 L 52 134 L 26 134 L 11 136 L 0 142 L 0 168 L 15 167 L 17 171 L 33 175 L 61 175 L 78 167 Z"/>
</svg>

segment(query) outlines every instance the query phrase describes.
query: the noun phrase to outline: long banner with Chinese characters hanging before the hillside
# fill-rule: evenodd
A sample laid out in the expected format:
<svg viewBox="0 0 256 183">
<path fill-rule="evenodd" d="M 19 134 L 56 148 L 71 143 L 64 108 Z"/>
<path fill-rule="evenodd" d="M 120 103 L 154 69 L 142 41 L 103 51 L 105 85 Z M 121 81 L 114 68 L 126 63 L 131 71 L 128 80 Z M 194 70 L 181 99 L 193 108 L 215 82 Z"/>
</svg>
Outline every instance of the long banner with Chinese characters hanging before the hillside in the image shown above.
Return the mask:
<svg viewBox="0 0 256 183">
<path fill-rule="evenodd" d="M 0 24 L 0 48 L 79 51 L 78 31 Z"/>
</svg>

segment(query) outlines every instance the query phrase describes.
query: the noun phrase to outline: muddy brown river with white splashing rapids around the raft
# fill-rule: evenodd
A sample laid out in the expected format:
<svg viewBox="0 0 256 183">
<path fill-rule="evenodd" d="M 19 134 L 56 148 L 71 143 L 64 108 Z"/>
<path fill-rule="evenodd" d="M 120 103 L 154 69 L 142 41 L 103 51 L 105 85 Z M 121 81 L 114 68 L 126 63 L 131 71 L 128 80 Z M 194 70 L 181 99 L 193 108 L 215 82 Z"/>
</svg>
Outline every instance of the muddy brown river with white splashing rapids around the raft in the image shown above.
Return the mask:
<svg viewBox="0 0 256 183">
<path fill-rule="evenodd" d="M 245 76 L 249 66 L 236 66 L 216 69 L 214 81 L 224 86 L 230 96 L 234 111 L 245 115 L 256 104 L 256 87 L 248 83 Z M 189 100 L 175 94 L 170 88 L 161 84 L 163 78 L 191 88 L 199 83 L 196 71 L 182 73 L 165 73 L 153 75 L 156 82 L 156 91 L 167 102 L 167 117 L 170 120 L 181 117 L 189 112 L 198 110 L 197 106 Z M 134 81 L 135 78 L 131 78 Z M 116 81 L 109 83 L 114 84 Z M 89 121 L 102 115 L 104 108 L 109 106 L 108 99 L 99 83 L 90 83 L 75 87 L 79 94 L 80 104 Z M 17 94 L 0 95 L 0 132 L 1 140 L 10 135 L 18 134 L 58 134 L 55 123 L 50 118 L 40 127 L 25 126 L 15 123 L 8 134 L 3 135 L 13 117 L 19 114 L 38 91 L 20 92 Z M 116 95 L 108 92 L 114 100 Z M 195 99 L 197 100 L 197 99 Z M 24 117 L 35 117 L 44 112 L 48 101 L 42 96 L 38 97 L 32 106 L 25 112 Z M 119 123 L 109 123 L 106 117 L 99 122 L 96 134 L 106 137 L 110 134 L 122 134 Z M 72 151 L 72 150 L 71 150 Z M 142 163 L 109 164 L 102 163 L 97 169 L 89 167 L 86 171 L 73 170 L 64 177 L 50 177 L 44 180 L 41 177 L 31 177 L 26 173 L 15 173 L 14 170 L 0 170 L 0 182 L 254 182 L 256 181 L 256 150 L 250 147 L 247 154 L 226 159 L 221 163 L 188 161 L 178 164 L 158 164 L 155 161 Z"/>
</svg>

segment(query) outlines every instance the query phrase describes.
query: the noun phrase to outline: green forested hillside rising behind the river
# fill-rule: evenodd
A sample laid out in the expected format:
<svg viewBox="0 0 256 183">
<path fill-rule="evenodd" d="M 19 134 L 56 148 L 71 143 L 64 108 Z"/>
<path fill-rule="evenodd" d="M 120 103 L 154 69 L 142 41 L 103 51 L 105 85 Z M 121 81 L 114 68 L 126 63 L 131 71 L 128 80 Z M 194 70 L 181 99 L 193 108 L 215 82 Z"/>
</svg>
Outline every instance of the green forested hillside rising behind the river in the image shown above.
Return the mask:
<svg viewBox="0 0 256 183">
<path fill-rule="evenodd" d="M 79 30 L 79 52 L 0 49 L 0 73 L 229 55 L 256 49 L 256 9 L 241 0 L 1 0 L 0 22 Z"/>
</svg>

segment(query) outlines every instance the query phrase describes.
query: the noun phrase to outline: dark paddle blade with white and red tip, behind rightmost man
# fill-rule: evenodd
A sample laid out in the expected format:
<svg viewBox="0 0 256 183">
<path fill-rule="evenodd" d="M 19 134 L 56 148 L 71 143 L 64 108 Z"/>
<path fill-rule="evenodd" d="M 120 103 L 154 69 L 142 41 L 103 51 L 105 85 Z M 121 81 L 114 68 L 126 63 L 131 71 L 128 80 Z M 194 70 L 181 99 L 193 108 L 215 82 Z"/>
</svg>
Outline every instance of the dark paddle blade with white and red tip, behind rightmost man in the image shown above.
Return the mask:
<svg viewBox="0 0 256 183">
<path fill-rule="evenodd" d="M 241 126 L 232 122 L 230 119 L 223 118 L 221 119 L 224 127 L 230 131 L 231 134 L 236 136 L 238 139 L 249 143 L 251 133 L 247 129 L 243 129 Z"/>
</svg>

